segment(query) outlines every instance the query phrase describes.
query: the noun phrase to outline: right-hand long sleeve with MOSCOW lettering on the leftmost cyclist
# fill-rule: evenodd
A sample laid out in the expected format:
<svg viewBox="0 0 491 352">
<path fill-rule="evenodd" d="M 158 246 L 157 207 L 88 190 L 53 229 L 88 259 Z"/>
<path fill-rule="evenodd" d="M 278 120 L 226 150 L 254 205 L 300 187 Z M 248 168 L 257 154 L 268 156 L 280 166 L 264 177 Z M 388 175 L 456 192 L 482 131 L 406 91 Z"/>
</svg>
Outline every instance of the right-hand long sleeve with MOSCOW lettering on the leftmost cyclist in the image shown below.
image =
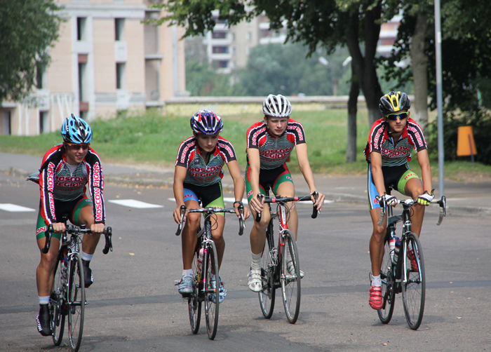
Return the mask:
<svg viewBox="0 0 491 352">
<path fill-rule="evenodd" d="M 105 224 L 106 210 L 104 204 L 104 173 L 99 156 L 90 149 L 86 156 L 88 190 L 92 198 L 95 224 Z"/>
</svg>

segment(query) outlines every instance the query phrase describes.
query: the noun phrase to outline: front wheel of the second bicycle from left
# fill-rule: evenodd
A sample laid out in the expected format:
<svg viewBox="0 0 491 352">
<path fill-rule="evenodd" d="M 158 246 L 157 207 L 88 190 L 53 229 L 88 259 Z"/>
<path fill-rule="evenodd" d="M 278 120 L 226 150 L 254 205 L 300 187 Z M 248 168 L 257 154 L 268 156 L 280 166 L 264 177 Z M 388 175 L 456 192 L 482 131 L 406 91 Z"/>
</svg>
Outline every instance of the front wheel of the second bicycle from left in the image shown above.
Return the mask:
<svg viewBox="0 0 491 352">
<path fill-rule="evenodd" d="M 215 243 L 209 242 L 206 245 L 205 260 L 203 265 L 206 265 L 206 270 L 203 270 L 203 275 L 206 278 L 203 280 L 205 290 L 205 316 L 206 330 L 208 331 L 208 339 L 215 339 L 218 327 L 218 308 L 220 306 L 220 276 L 218 273 L 218 257 Z M 214 283 L 210 278 L 215 275 Z"/>
</svg>

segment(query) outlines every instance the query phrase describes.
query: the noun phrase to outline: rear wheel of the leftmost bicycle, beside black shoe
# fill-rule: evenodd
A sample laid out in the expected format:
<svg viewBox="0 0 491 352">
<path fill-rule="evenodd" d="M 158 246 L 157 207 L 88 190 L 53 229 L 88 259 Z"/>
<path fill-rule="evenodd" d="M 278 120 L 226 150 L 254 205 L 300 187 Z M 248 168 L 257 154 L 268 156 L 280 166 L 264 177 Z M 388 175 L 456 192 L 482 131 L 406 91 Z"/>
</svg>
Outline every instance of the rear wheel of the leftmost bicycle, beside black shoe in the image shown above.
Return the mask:
<svg viewBox="0 0 491 352">
<path fill-rule="evenodd" d="M 63 332 L 65 330 L 65 316 L 62 313 L 63 302 L 63 292 L 65 290 L 65 285 L 62 282 L 62 252 L 58 255 L 55 264 L 55 278 L 53 280 L 53 288 L 51 290 L 51 295 L 49 298 L 49 310 L 51 314 L 51 331 L 53 331 L 53 344 L 55 346 L 60 346 L 63 339 Z M 66 307 L 65 307 L 66 309 Z"/>
</svg>

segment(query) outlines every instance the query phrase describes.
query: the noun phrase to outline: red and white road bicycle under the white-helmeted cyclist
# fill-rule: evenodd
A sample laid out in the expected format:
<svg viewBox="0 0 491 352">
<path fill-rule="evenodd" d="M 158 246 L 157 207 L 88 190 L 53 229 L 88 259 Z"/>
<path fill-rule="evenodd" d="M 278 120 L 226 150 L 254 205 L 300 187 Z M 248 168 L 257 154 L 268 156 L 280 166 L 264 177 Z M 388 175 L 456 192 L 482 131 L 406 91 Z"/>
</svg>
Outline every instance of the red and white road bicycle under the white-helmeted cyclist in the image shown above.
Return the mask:
<svg viewBox="0 0 491 352">
<path fill-rule="evenodd" d="M 300 259 L 297 250 L 297 242 L 292 231 L 288 229 L 290 215 L 288 202 L 311 201 L 311 195 L 302 197 L 269 197 L 269 188 L 266 188 L 266 196 L 258 195 L 260 201 L 268 203 L 271 219 L 266 230 L 266 243 L 261 257 L 262 290 L 259 292 L 259 302 L 264 318 L 271 318 L 274 310 L 276 289 L 281 287 L 283 306 L 286 318 L 291 324 L 295 324 L 300 312 Z M 317 199 L 318 192 L 314 192 Z M 271 209 L 271 203 L 276 204 L 276 211 Z M 314 207 L 312 219 L 317 217 L 317 208 Z M 278 246 L 274 245 L 274 219 L 278 219 Z M 256 222 L 260 222 L 261 214 L 256 216 Z"/>
</svg>

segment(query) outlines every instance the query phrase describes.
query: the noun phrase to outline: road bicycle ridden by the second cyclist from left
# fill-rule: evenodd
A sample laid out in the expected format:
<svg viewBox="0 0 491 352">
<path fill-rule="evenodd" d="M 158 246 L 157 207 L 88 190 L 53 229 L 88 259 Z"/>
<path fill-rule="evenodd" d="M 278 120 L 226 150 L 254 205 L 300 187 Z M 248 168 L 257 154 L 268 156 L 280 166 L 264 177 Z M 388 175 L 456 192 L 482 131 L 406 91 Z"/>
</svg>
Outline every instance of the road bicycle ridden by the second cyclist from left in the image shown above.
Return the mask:
<svg viewBox="0 0 491 352">
<path fill-rule="evenodd" d="M 203 228 L 198 229 L 198 242 L 194 250 L 193 257 L 193 292 L 184 297 L 187 299 L 187 308 L 189 311 L 189 323 L 191 332 L 197 334 L 199 323 L 201 320 L 201 303 L 205 304 L 205 320 L 208 339 L 215 339 L 218 327 L 218 309 L 220 307 L 220 274 L 218 271 L 218 257 L 215 243 L 213 242 L 211 230 L 213 228 L 212 215 L 217 212 L 229 212 L 236 214 L 236 208 L 186 208 L 181 205 L 181 222 L 177 228 L 176 236 L 179 236 L 182 231 L 182 224 L 186 210 L 188 212 L 201 212 L 205 217 Z M 245 228 L 244 224 L 244 208 L 243 205 L 238 206 L 241 217 L 238 218 L 239 229 L 238 235 L 242 236 Z M 211 280 L 215 276 L 215 280 Z M 178 283 L 178 282 L 177 282 Z"/>
</svg>

